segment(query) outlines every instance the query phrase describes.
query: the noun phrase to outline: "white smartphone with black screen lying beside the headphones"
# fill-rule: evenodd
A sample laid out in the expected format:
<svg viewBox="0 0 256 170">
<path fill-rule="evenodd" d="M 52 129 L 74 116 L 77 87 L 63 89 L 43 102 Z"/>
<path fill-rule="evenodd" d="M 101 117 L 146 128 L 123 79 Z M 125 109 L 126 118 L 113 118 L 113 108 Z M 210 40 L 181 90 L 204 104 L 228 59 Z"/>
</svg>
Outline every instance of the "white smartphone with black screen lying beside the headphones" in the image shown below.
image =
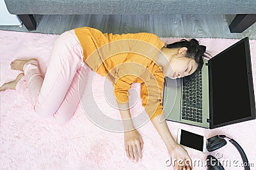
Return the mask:
<svg viewBox="0 0 256 170">
<path fill-rule="evenodd" d="M 177 143 L 203 153 L 206 152 L 206 137 L 194 132 L 178 129 Z"/>
</svg>

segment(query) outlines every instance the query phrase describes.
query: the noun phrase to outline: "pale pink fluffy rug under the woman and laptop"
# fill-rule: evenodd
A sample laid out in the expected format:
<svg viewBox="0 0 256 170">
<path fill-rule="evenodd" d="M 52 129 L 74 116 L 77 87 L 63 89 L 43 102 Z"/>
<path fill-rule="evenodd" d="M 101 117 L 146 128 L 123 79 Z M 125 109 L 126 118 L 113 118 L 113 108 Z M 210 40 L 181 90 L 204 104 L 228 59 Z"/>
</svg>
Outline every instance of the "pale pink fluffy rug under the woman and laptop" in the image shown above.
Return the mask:
<svg viewBox="0 0 256 170">
<path fill-rule="evenodd" d="M 45 74 L 47 62 L 51 54 L 52 44 L 58 35 L 36 34 L 26 32 L 0 31 L 0 85 L 15 79 L 20 71 L 13 71 L 10 62 L 14 59 L 37 58 L 42 73 Z M 180 38 L 163 38 L 170 43 Z M 221 50 L 236 43 L 239 39 L 199 39 L 202 45 L 212 56 Z M 253 82 L 256 85 L 256 41 L 250 40 L 252 55 Z M 102 82 L 105 78 L 88 74 L 88 89 L 93 83 L 99 108 L 111 114 L 111 117 L 120 119 L 118 110 L 109 108 L 108 103 L 102 100 L 104 95 L 113 96 L 109 90 L 107 94 L 102 91 Z M 111 83 L 107 85 L 110 89 Z M 92 87 L 91 87 L 92 88 Z M 132 88 L 140 94 L 140 84 L 134 83 Z M 87 90 L 88 90 L 87 89 Z M 256 89 L 254 87 L 254 89 Z M 88 92 L 84 92 L 89 94 Z M 65 125 L 56 125 L 50 118 L 41 118 L 35 115 L 31 103 L 18 90 L 5 90 L 1 95 L 1 126 L 0 126 L 0 169 L 172 169 L 168 166 L 169 155 L 163 140 L 151 122 L 138 129 L 143 141 L 143 159 L 133 162 L 127 158 L 124 146 L 124 134 L 106 131 L 93 124 L 83 112 L 81 104 L 77 106 L 76 113 Z M 91 106 L 93 96 L 84 95 Z M 132 97 L 132 96 L 131 96 Z M 111 98 L 113 99 L 113 98 Z M 92 108 L 93 110 L 93 108 Z M 143 110 L 140 96 L 138 102 L 131 109 L 134 116 Z M 106 114 L 108 114 L 106 113 Z M 142 113 L 145 114 L 145 111 Z M 256 120 L 227 125 L 218 129 L 204 129 L 176 122 L 167 122 L 173 138 L 177 138 L 178 128 L 187 129 L 205 135 L 207 138 L 216 134 L 226 134 L 235 139 L 244 149 L 249 162 L 256 167 Z M 205 158 L 210 153 L 202 153 L 186 148 L 192 160 L 202 161 L 202 166 L 194 169 L 206 169 Z M 241 157 L 231 143 L 211 155 L 221 155 L 220 160 L 230 160 L 231 165 L 225 169 L 243 169 L 239 167 Z M 166 164 L 167 161 L 167 164 Z M 237 161 L 237 166 L 232 162 Z"/>
</svg>

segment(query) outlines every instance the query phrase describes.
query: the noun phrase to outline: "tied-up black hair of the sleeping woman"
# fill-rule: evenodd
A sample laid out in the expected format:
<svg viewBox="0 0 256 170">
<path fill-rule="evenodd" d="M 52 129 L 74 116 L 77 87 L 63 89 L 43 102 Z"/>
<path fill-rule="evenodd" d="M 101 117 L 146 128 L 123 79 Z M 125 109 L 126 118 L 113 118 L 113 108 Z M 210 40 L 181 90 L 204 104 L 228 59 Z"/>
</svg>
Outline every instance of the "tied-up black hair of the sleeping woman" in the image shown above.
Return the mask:
<svg viewBox="0 0 256 170">
<path fill-rule="evenodd" d="M 167 48 L 182 48 L 182 47 L 188 48 L 186 57 L 188 57 L 189 59 L 195 59 L 195 62 L 198 64 L 198 69 L 202 69 L 204 65 L 203 57 L 210 58 L 207 56 L 209 55 L 209 53 L 205 52 L 206 46 L 199 45 L 199 42 L 196 39 L 189 39 L 189 41 L 186 39 L 181 39 L 180 41 L 169 44 L 166 47 Z"/>
</svg>

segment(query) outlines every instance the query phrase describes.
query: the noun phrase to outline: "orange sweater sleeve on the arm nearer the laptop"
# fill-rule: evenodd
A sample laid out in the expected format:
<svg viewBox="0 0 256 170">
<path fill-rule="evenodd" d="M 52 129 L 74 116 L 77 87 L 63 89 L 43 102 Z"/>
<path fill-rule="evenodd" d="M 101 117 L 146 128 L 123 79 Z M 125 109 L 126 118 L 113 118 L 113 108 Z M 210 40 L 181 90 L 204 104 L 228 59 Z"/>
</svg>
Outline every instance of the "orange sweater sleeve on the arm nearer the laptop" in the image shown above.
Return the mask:
<svg viewBox="0 0 256 170">
<path fill-rule="evenodd" d="M 142 106 L 145 107 L 145 111 L 153 120 L 157 115 L 164 115 L 162 104 L 162 92 L 164 86 L 164 74 L 163 71 L 157 69 L 154 73 L 154 78 L 147 82 L 141 83 L 141 99 Z"/>
</svg>

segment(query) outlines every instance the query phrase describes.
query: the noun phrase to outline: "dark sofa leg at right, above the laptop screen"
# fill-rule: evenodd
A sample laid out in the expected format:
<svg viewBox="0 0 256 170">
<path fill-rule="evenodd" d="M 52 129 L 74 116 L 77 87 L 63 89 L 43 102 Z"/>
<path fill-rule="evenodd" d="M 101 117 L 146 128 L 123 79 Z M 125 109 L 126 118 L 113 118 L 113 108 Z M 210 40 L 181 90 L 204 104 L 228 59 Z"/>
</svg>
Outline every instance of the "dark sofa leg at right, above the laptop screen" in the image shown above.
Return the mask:
<svg viewBox="0 0 256 170">
<path fill-rule="evenodd" d="M 241 33 L 256 22 L 255 14 L 237 14 L 229 25 L 232 33 Z"/>
</svg>

